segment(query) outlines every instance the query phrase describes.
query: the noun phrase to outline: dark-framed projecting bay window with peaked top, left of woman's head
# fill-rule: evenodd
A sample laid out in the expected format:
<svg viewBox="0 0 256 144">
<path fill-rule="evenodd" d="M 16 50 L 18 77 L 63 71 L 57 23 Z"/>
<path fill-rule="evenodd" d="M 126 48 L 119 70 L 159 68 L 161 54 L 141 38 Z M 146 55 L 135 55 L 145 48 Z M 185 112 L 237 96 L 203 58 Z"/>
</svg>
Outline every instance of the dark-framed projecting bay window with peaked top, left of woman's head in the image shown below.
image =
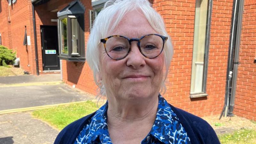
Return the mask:
<svg viewBox="0 0 256 144">
<path fill-rule="evenodd" d="M 57 12 L 60 59 L 85 60 L 84 12 L 84 5 L 77 0 L 72 1 L 64 9 Z"/>
</svg>

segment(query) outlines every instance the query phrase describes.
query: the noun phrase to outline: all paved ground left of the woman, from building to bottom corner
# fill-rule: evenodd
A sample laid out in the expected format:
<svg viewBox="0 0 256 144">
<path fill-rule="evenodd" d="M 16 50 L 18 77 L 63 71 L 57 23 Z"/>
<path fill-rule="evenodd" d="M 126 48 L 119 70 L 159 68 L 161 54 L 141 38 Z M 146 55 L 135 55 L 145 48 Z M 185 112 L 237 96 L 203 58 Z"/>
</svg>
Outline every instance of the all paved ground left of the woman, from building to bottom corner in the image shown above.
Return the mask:
<svg viewBox="0 0 256 144">
<path fill-rule="evenodd" d="M 60 74 L 0 77 L 0 144 L 51 144 L 59 133 L 45 122 L 31 117 L 30 111 L 16 111 L 94 98 L 94 95 L 62 83 Z"/>
</svg>

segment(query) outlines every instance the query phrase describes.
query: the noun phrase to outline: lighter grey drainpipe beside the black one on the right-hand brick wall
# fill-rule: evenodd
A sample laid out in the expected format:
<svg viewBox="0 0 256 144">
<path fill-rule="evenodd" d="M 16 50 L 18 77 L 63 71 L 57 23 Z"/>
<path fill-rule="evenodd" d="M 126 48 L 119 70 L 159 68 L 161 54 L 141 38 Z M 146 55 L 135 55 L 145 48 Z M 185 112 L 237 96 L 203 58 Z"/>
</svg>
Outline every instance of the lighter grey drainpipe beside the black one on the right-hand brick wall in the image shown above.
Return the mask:
<svg viewBox="0 0 256 144">
<path fill-rule="evenodd" d="M 244 9 L 244 0 L 239 0 L 238 18 L 237 18 L 237 27 L 236 27 L 234 67 L 233 67 L 232 87 L 231 87 L 228 116 L 233 116 L 233 110 L 235 106 L 236 77 L 237 77 L 237 68 L 239 64 L 239 50 L 240 50 L 240 38 L 241 38 L 242 21 L 243 21 L 242 19 L 243 9 Z"/>
</svg>

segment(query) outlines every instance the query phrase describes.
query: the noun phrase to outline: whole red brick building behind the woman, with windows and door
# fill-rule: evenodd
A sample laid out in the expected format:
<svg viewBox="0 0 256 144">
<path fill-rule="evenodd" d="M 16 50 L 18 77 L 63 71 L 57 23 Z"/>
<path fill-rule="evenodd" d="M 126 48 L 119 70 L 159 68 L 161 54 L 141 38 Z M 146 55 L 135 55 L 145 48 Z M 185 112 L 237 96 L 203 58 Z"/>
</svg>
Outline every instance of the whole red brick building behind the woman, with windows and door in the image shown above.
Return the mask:
<svg viewBox="0 0 256 144">
<path fill-rule="evenodd" d="M 95 95 L 97 86 L 84 52 L 91 23 L 106 1 L 17 0 L 8 5 L 1 0 L 1 42 L 17 50 L 24 70 L 60 70 L 65 83 Z M 198 116 L 223 111 L 256 120 L 256 1 L 151 3 L 162 15 L 174 46 L 164 95 L 168 102 Z M 27 45 L 25 29 L 30 36 Z M 57 37 L 58 42 L 52 42 Z"/>
</svg>

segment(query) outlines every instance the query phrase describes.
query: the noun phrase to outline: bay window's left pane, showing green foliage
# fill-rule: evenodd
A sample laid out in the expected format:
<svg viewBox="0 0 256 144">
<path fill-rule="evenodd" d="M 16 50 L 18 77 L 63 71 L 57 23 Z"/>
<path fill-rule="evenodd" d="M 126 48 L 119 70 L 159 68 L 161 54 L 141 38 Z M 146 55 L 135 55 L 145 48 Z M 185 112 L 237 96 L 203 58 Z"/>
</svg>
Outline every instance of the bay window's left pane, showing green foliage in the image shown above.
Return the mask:
<svg viewBox="0 0 256 144">
<path fill-rule="evenodd" d="M 68 54 L 67 18 L 60 19 L 60 47 L 62 54 Z"/>
</svg>

